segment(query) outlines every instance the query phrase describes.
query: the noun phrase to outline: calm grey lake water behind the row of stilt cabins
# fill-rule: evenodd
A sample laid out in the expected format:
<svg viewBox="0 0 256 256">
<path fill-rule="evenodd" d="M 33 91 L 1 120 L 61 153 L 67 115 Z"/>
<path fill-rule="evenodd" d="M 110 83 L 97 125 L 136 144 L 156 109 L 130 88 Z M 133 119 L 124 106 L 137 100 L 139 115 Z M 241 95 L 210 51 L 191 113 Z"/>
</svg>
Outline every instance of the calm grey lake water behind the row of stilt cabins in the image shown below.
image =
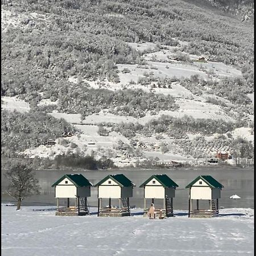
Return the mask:
<svg viewBox="0 0 256 256">
<path fill-rule="evenodd" d="M 92 184 L 98 183 L 98 181 L 102 180 L 109 174 L 124 174 L 136 185 L 134 188 L 133 198 L 130 199 L 130 205 L 135 205 L 136 207 L 141 208 L 143 208 L 144 204 L 143 188 L 139 188 L 139 186 L 153 174 L 167 174 L 179 185 L 176 189 L 174 209 L 180 210 L 188 209 L 189 189 L 185 189 L 185 186 L 199 175 L 212 175 L 216 180 L 224 185 L 224 188 L 221 191 L 221 199 L 219 200 L 220 207 L 254 209 L 254 170 L 232 167 L 177 168 L 175 170 L 36 171 L 36 178 L 40 183 L 41 194 L 25 199 L 23 201 L 23 205 L 56 205 L 54 188 L 52 188 L 51 185 L 64 174 L 72 173 L 80 173 L 84 175 Z M 14 203 L 15 201 L 4 193 L 7 186 L 7 180 L 3 177 L 3 174 L 1 176 L 2 203 Z M 234 194 L 240 196 L 241 199 L 230 199 L 229 197 Z M 88 202 L 90 206 L 97 205 L 97 188 L 91 188 L 91 196 L 88 198 Z M 108 200 L 103 201 L 103 204 L 108 204 Z M 118 200 L 113 200 L 112 204 L 118 205 Z M 63 205 L 65 205 L 64 199 Z M 155 200 L 155 205 L 162 207 L 163 200 Z"/>
</svg>

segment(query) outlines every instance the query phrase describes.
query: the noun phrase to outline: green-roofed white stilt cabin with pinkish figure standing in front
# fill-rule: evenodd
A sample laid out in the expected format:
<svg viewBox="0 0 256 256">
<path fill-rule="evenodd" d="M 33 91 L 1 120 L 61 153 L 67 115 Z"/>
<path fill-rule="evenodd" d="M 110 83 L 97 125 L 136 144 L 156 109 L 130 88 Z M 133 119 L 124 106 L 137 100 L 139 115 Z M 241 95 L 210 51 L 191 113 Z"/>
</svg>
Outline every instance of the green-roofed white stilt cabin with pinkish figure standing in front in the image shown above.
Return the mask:
<svg viewBox="0 0 256 256">
<path fill-rule="evenodd" d="M 144 217 L 148 216 L 149 207 L 147 199 L 151 199 L 151 204 L 155 206 L 155 217 L 172 217 L 174 216 L 173 199 L 175 189 L 179 187 L 166 174 L 155 174 L 142 183 L 140 188 L 144 188 Z M 156 205 L 156 200 L 162 200 L 163 208 Z"/>
</svg>

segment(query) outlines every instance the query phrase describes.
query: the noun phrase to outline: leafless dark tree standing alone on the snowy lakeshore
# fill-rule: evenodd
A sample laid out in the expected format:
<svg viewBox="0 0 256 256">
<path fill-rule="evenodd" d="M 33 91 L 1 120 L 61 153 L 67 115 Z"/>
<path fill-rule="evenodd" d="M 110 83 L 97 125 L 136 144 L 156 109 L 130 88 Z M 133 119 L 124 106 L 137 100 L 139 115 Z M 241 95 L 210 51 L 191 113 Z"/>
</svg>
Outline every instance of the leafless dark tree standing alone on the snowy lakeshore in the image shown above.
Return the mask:
<svg viewBox="0 0 256 256">
<path fill-rule="evenodd" d="M 32 195 L 39 195 L 39 181 L 35 173 L 26 164 L 14 162 L 5 176 L 10 181 L 6 193 L 17 201 L 16 210 L 20 209 L 22 200 Z"/>
</svg>

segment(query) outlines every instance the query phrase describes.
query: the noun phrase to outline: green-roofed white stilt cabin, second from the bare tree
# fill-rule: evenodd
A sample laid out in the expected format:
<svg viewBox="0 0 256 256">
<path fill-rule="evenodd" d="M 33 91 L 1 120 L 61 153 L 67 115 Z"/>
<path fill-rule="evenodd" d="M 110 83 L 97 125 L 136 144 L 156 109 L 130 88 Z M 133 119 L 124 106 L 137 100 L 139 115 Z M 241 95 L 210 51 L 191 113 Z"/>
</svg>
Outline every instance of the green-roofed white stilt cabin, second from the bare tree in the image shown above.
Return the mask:
<svg viewBox="0 0 256 256">
<path fill-rule="evenodd" d="M 135 185 L 125 175 L 108 175 L 94 187 L 98 187 L 98 216 L 130 216 L 129 198 L 133 197 Z M 102 199 L 108 199 L 106 207 L 102 206 Z M 112 206 L 113 199 L 118 199 L 118 207 Z"/>
</svg>

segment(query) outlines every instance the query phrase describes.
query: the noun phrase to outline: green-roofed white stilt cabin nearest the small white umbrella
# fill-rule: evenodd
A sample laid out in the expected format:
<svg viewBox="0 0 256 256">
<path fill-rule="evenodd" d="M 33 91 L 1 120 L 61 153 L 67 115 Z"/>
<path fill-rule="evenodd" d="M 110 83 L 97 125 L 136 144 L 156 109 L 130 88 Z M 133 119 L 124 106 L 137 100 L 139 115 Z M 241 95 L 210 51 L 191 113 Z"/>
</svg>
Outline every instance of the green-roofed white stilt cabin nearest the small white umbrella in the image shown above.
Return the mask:
<svg viewBox="0 0 256 256">
<path fill-rule="evenodd" d="M 218 216 L 218 199 L 224 188 L 222 184 L 210 175 L 200 175 L 185 188 L 189 188 L 188 217 Z M 204 209 L 199 208 L 199 200 L 202 205 L 204 203 Z M 193 201 L 196 201 L 196 209 L 193 208 Z"/>
</svg>

